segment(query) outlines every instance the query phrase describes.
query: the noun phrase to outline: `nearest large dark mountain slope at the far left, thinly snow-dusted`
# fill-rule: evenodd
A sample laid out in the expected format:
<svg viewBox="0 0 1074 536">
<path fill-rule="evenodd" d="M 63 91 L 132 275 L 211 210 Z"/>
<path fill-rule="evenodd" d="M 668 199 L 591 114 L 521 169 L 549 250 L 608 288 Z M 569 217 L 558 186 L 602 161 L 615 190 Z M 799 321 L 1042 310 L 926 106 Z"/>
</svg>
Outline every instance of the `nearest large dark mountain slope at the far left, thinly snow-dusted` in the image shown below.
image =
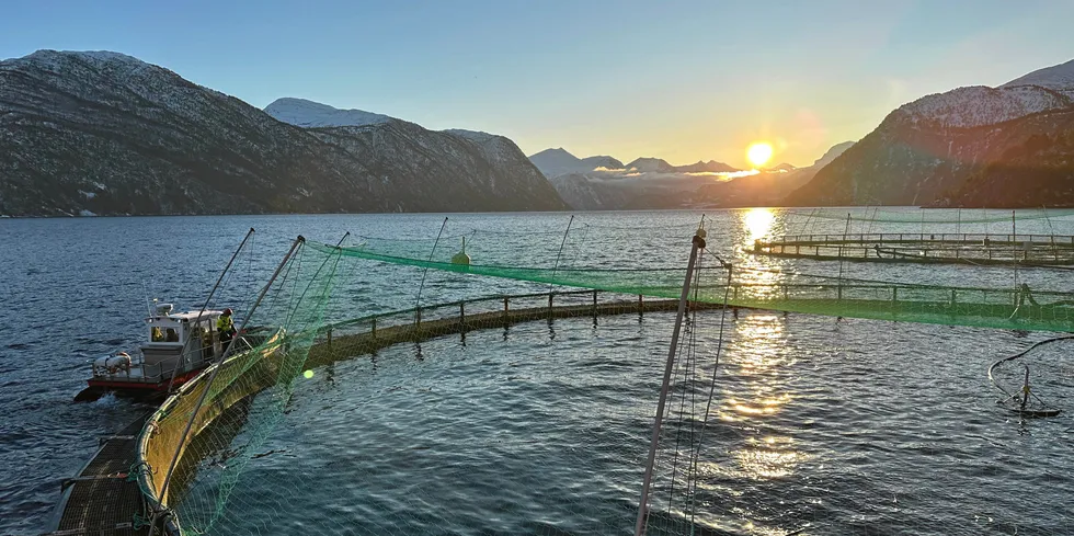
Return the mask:
<svg viewBox="0 0 1074 536">
<path fill-rule="evenodd" d="M 0 213 L 384 208 L 361 162 L 260 110 L 115 53 L 0 62 Z"/>
</svg>

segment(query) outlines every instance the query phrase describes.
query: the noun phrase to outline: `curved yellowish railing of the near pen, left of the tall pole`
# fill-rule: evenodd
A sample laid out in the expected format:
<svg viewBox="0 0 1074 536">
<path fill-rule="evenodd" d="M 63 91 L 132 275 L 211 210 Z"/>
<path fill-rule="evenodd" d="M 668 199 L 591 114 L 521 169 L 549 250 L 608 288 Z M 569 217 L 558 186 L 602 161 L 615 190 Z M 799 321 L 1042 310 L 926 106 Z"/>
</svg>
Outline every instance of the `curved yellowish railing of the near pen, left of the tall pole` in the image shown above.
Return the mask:
<svg viewBox="0 0 1074 536">
<path fill-rule="evenodd" d="M 199 534 L 214 522 L 214 515 L 206 510 L 220 508 L 226 499 L 217 505 L 191 505 L 187 501 L 204 503 L 205 499 L 187 495 L 186 490 L 197 478 L 198 459 L 224 448 L 220 444 L 206 445 L 206 442 L 229 441 L 202 432 L 215 425 L 214 421 L 228 414 L 232 407 L 241 406 L 263 391 L 271 392 L 278 383 L 293 379 L 304 369 L 448 333 L 553 318 L 592 316 L 596 322 L 601 316 L 670 310 L 672 307 L 673 304 L 666 300 L 637 295 L 556 289 L 432 304 L 310 326 L 302 331 L 281 329 L 256 344 L 245 345 L 249 350 L 212 365 L 165 400 L 139 437 L 139 483 L 149 504 L 158 512 L 169 513 L 174 534 Z M 240 341 L 241 338 L 236 343 Z M 288 362 L 295 363 L 288 367 Z M 216 368 L 219 370 L 214 375 Z M 205 402 L 198 404 L 203 396 Z M 271 396 L 276 397 L 275 394 Z M 191 433 L 184 435 L 188 421 L 193 423 Z M 175 480 L 161 493 L 176 447 Z"/>
</svg>

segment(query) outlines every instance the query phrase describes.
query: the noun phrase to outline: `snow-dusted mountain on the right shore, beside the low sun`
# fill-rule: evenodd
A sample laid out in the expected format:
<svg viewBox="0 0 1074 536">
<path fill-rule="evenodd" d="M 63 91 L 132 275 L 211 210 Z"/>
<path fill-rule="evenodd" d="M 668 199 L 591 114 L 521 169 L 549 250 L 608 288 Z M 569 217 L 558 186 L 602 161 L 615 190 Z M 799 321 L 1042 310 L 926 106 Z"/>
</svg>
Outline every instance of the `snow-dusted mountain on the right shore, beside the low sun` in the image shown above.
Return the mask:
<svg viewBox="0 0 1074 536">
<path fill-rule="evenodd" d="M 998 88 L 959 88 L 902 105 L 786 203 L 1074 204 L 1074 189 L 1062 185 L 1074 183 L 1072 70 L 1069 61 Z M 1030 183 L 1035 192 L 1020 187 Z"/>
</svg>

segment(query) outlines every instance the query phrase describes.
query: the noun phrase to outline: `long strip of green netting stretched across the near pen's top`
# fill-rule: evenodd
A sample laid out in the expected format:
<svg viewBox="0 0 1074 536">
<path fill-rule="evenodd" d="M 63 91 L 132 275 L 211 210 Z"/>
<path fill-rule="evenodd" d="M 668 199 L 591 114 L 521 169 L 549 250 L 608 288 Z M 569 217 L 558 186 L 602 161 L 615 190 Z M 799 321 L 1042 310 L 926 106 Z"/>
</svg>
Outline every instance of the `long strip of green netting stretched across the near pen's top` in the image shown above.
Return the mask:
<svg viewBox="0 0 1074 536">
<path fill-rule="evenodd" d="M 677 298 L 685 269 L 560 269 L 456 264 L 405 256 L 386 241 L 335 249 L 311 244 L 321 254 L 422 269 L 576 288 Z M 702 258 L 704 259 L 704 258 Z M 730 274 L 729 274 L 730 272 Z M 1010 287 L 960 287 L 780 273 L 739 267 L 717 259 L 701 262 L 698 301 L 833 317 L 1041 331 L 1074 331 L 1074 293 Z M 729 276 L 730 275 L 730 276 Z M 768 281 L 765 281 L 768 280 Z M 730 285 L 730 286 L 729 286 Z"/>
</svg>

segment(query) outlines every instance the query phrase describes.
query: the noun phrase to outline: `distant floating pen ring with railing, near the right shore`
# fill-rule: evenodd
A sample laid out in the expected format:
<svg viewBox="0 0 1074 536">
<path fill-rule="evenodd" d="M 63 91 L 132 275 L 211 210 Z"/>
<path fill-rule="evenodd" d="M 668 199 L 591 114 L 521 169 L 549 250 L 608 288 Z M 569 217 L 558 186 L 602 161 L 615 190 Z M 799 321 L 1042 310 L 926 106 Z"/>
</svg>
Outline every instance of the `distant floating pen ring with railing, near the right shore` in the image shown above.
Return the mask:
<svg viewBox="0 0 1074 536">
<path fill-rule="evenodd" d="M 790 235 L 757 240 L 755 255 L 816 261 L 1072 265 L 1074 236 L 987 233 Z"/>
</svg>

